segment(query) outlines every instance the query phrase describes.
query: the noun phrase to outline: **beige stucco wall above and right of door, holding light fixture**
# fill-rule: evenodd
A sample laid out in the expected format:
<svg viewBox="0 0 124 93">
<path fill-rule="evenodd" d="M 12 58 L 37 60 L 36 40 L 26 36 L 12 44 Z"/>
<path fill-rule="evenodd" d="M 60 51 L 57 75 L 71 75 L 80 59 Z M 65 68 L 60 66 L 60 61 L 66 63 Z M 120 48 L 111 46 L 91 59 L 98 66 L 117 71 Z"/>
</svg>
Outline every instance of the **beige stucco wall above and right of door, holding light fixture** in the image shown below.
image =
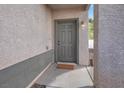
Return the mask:
<svg viewBox="0 0 124 93">
<path fill-rule="evenodd" d="M 81 8 L 73 9 L 59 9 L 53 10 L 53 21 L 56 19 L 79 19 L 79 64 L 89 64 L 89 53 L 88 53 L 88 12 L 83 11 Z M 84 22 L 85 27 L 81 27 L 81 21 Z"/>
</svg>

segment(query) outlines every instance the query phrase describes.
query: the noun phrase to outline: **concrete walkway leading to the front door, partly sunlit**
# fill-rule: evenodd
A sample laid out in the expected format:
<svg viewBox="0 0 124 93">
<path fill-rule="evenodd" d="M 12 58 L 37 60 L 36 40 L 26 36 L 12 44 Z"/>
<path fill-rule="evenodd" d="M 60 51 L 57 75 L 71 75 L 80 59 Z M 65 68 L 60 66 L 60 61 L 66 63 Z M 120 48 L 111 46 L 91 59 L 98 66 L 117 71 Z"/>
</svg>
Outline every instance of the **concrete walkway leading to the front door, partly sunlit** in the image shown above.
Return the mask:
<svg viewBox="0 0 124 93">
<path fill-rule="evenodd" d="M 58 88 L 92 87 L 93 82 L 87 70 L 82 66 L 76 66 L 74 70 L 57 69 L 53 64 L 36 83 Z"/>
</svg>

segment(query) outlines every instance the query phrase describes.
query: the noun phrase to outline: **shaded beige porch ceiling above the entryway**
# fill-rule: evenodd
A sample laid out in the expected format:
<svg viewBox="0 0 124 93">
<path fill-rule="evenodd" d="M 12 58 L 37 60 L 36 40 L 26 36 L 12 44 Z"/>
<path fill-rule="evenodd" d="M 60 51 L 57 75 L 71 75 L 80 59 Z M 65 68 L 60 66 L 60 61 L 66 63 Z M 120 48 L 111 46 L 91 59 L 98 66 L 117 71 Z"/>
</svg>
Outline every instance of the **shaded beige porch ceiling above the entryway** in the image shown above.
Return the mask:
<svg viewBox="0 0 124 93">
<path fill-rule="evenodd" d="M 89 7 L 88 4 L 48 4 L 48 6 L 52 10 L 71 9 L 71 8 L 82 8 L 82 10 L 87 10 Z"/>
</svg>

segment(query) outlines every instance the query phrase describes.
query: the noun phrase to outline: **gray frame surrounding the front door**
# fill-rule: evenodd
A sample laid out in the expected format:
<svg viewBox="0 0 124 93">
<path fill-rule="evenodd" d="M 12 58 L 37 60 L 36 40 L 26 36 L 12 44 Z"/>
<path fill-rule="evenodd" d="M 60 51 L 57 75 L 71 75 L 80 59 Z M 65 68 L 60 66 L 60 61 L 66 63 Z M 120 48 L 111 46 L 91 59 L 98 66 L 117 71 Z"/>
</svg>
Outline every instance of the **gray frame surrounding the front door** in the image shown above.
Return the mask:
<svg viewBox="0 0 124 93">
<path fill-rule="evenodd" d="M 54 20 L 54 61 L 55 63 L 57 63 L 56 61 L 56 57 L 57 57 L 57 51 L 56 51 L 56 31 L 57 31 L 57 22 L 58 21 L 67 21 L 67 20 L 74 20 L 76 21 L 76 64 L 79 64 L 79 18 L 70 18 L 70 19 L 55 19 Z"/>
</svg>

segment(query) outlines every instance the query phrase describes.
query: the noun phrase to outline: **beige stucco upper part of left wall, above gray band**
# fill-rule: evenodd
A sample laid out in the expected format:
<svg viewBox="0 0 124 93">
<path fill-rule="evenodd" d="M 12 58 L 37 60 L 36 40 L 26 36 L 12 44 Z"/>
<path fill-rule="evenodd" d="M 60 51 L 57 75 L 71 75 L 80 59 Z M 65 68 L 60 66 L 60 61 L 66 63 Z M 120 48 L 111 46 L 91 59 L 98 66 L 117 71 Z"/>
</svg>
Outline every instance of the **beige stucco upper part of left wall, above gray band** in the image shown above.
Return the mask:
<svg viewBox="0 0 124 93">
<path fill-rule="evenodd" d="M 0 69 L 52 49 L 51 23 L 45 5 L 0 5 Z"/>
</svg>

